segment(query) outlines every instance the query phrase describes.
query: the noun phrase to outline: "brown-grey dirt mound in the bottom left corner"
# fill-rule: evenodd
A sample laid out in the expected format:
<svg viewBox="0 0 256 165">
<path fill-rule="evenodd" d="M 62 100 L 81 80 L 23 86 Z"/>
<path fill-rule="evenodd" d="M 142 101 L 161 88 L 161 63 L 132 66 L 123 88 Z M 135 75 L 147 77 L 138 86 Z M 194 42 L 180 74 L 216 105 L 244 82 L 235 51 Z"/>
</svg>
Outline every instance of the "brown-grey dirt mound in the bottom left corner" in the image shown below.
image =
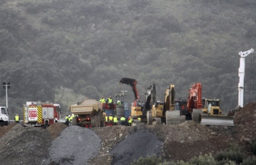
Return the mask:
<svg viewBox="0 0 256 165">
<path fill-rule="evenodd" d="M 10 125 L 11 127 L 11 125 Z M 3 165 L 41 164 L 52 140 L 47 130 L 16 124 L 0 138 Z"/>
</svg>

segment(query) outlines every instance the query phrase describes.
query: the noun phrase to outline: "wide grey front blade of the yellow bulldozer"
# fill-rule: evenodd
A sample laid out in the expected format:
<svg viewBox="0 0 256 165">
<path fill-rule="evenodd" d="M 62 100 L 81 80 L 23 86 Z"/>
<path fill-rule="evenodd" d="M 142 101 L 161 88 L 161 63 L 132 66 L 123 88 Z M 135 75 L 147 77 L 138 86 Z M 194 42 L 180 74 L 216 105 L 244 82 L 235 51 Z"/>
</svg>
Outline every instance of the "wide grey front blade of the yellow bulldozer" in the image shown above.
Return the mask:
<svg viewBox="0 0 256 165">
<path fill-rule="evenodd" d="M 228 117 L 228 116 L 202 115 L 200 123 L 202 125 L 235 126 L 233 117 Z"/>
</svg>

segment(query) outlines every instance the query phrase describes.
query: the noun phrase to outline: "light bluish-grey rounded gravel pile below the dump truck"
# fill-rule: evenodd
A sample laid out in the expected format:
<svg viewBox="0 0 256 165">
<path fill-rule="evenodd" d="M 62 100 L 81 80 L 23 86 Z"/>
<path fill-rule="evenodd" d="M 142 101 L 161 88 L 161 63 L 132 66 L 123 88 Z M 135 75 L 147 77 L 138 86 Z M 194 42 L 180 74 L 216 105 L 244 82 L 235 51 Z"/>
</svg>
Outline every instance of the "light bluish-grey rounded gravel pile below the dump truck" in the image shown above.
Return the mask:
<svg viewBox="0 0 256 165">
<path fill-rule="evenodd" d="M 87 165 L 101 147 L 94 131 L 79 126 L 65 128 L 49 147 L 49 159 L 43 165 Z"/>
</svg>

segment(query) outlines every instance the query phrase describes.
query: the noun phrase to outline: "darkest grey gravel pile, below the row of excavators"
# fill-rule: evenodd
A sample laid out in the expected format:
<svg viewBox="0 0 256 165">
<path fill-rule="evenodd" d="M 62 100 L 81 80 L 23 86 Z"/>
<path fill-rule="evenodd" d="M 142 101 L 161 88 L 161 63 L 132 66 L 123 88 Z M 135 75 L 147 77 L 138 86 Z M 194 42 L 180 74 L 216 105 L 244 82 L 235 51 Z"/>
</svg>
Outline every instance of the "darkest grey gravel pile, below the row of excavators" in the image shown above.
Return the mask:
<svg viewBox="0 0 256 165">
<path fill-rule="evenodd" d="M 140 157 L 161 155 L 163 142 L 148 130 L 139 130 L 118 143 L 113 154 L 112 165 L 128 165 Z"/>
</svg>

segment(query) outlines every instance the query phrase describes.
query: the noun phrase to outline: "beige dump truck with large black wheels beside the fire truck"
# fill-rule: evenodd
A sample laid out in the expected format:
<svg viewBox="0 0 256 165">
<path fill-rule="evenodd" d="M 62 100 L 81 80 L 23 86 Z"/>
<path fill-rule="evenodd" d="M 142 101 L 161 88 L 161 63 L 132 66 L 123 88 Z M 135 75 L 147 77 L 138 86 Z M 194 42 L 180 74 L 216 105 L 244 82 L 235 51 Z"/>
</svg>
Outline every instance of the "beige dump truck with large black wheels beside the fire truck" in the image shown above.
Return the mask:
<svg viewBox="0 0 256 165">
<path fill-rule="evenodd" d="M 75 115 L 71 120 L 71 125 L 86 128 L 105 126 L 106 114 L 97 100 L 87 99 L 75 105 L 70 105 L 70 111 Z"/>
</svg>

